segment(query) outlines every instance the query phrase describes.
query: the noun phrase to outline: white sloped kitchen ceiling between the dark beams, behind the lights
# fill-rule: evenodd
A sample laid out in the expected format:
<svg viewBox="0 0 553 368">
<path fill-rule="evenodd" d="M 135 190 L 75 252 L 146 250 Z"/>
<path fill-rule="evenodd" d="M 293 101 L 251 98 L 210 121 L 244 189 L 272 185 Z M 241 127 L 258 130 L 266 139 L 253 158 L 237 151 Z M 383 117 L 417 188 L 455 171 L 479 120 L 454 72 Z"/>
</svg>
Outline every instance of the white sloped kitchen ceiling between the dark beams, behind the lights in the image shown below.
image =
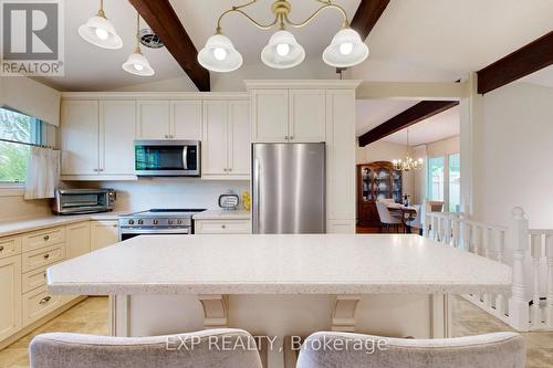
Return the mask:
<svg viewBox="0 0 553 368">
<path fill-rule="evenodd" d="M 320 3 L 315 0 L 290 0 L 291 18 L 302 20 Z M 171 0 L 177 14 L 197 49 L 215 32 L 218 15 L 244 0 Z M 335 0 L 349 17 L 359 0 Z M 268 22 L 272 0 L 260 0 L 247 11 Z M 107 18 L 114 23 L 125 45 L 108 51 L 87 44 L 77 28 L 95 14 L 97 0 L 71 0 L 65 4 L 65 77 L 41 78 L 63 91 L 114 90 L 145 82 L 184 77 L 184 88 L 191 84 L 167 50 L 144 50 L 157 74 L 152 78 L 124 73 L 121 64 L 134 48 L 135 11 L 125 0 L 105 1 Z M 369 59 L 353 70 L 353 77 L 367 81 L 455 81 L 507 55 L 551 31 L 551 0 L 394 0 L 367 39 Z M 243 18 L 230 14 L 223 32 L 243 54 L 246 64 L 259 64 L 259 52 L 271 31 L 260 31 Z M 307 56 L 320 57 L 340 29 L 333 11 L 309 27 L 294 30 Z M 253 69 L 255 70 L 255 69 Z M 263 75 L 249 75 L 262 78 Z M 538 78 L 540 80 L 541 76 Z M 535 81 L 532 81 L 535 82 Z"/>
</svg>

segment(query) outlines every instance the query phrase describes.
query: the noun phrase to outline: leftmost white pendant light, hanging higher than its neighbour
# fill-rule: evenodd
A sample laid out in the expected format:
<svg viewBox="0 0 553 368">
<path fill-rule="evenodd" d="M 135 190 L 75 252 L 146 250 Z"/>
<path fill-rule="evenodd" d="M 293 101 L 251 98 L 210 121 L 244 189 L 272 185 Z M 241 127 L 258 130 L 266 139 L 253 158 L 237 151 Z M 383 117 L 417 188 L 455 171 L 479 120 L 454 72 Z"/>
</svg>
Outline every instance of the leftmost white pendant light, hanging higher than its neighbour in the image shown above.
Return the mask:
<svg viewBox="0 0 553 368">
<path fill-rule="evenodd" d="M 112 22 L 104 13 L 104 0 L 100 0 L 100 10 L 96 15 L 79 28 L 79 34 L 86 42 L 103 49 L 121 49 L 123 40 L 115 31 Z"/>
</svg>

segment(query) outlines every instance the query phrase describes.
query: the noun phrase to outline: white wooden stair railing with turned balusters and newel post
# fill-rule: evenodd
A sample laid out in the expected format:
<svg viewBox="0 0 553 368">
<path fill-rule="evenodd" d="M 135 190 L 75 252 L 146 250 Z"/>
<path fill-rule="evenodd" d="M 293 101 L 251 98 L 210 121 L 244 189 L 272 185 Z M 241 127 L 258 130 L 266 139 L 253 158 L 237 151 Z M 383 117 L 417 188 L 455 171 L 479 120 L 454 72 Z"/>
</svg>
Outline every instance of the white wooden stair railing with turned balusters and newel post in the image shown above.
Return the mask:
<svg viewBox="0 0 553 368">
<path fill-rule="evenodd" d="M 553 230 L 530 230 L 524 211 L 518 207 L 512 210 L 509 228 L 473 221 L 465 213 L 430 212 L 425 215 L 424 234 L 501 263 L 511 255 L 509 294 L 465 297 L 519 332 L 553 330 Z M 526 280 L 528 264 L 531 280 Z"/>
</svg>

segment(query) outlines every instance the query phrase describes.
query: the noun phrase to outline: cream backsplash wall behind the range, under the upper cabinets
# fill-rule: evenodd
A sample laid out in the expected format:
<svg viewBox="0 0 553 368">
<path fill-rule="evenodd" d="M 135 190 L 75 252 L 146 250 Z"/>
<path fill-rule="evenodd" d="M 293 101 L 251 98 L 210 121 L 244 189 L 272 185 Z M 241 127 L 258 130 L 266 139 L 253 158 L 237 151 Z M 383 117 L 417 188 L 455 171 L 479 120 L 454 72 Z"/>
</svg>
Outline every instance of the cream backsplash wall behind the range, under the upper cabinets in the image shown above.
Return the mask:
<svg viewBox="0 0 553 368">
<path fill-rule="evenodd" d="M 144 178 L 138 181 L 73 182 L 81 188 L 114 188 L 116 211 L 144 211 L 152 208 L 217 209 L 219 196 L 231 189 L 242 197 L 249 181 L 208 181 L 188 178 Z"/>
</svg>

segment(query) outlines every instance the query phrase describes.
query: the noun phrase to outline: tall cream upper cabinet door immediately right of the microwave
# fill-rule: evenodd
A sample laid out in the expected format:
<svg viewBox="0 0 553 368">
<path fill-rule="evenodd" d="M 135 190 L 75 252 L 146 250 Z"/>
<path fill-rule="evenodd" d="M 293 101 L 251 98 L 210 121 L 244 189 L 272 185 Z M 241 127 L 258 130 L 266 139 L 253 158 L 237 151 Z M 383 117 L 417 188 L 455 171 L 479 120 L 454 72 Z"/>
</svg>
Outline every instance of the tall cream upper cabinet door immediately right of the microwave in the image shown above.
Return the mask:
<svg viewBox="0 0 553 368">
<path fill-rule="evenodd" d="M 202 175 L 227 175 L 228 172 L 227 108 L 226 101 L 204 102 Z"/>
</svg>

